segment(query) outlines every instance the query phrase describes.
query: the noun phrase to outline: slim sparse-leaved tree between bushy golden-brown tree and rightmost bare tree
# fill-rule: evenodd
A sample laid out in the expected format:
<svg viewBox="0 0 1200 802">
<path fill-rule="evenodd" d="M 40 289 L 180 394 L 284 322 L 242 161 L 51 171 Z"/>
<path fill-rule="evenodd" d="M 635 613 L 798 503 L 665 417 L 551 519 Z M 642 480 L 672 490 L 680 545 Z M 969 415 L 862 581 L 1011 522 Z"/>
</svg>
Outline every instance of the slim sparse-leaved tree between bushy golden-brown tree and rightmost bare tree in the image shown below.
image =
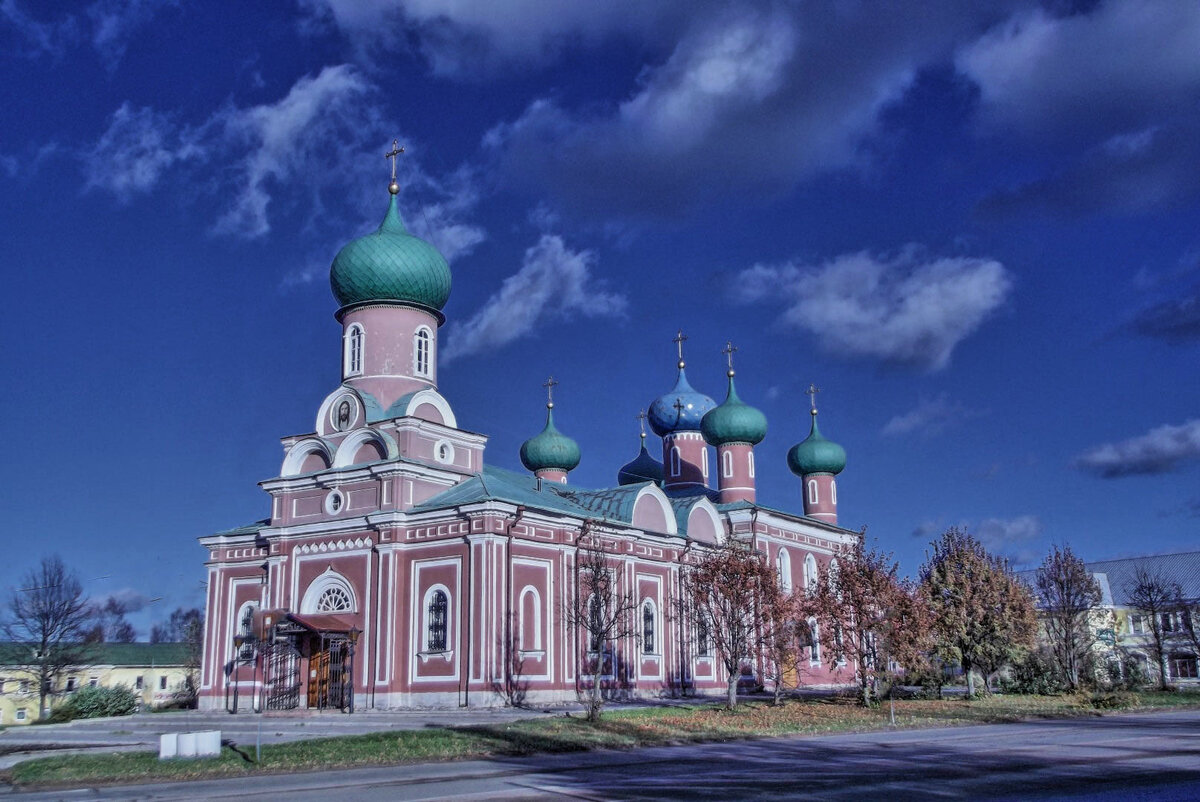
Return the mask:
<svg viewBox="0 0 1200 802">
<path fill-rule="evenodd" d="M 1075 690 L 1096 642 L 1088 618 L 1100 603 L 1100 586 L 1069 545 L 1046 555 L 1034 586 L 1050 653 L 1067 687 Z"/>
</svg>

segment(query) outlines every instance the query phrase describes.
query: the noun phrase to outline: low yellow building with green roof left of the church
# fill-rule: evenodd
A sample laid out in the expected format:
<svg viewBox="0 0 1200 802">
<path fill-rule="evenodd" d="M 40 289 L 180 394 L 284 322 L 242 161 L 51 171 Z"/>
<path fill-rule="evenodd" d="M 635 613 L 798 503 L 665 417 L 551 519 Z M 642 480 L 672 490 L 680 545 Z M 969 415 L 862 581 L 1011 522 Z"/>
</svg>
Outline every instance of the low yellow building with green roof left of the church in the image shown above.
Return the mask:
<svg viewBox="0 0 1200 802">
<path fill-rule="evenodd" d="M 12 658 L 14 645 L 0 651 L 0 725 L 29 724 L 37 719 L 37 678 Z M 53 710 L 85 686 L 133 690 L 143 710 L 184 704 L 191 695 L 187 644 L 97 644 L 91 658 L 64 674 L 47 699 Z"/>
</svg>

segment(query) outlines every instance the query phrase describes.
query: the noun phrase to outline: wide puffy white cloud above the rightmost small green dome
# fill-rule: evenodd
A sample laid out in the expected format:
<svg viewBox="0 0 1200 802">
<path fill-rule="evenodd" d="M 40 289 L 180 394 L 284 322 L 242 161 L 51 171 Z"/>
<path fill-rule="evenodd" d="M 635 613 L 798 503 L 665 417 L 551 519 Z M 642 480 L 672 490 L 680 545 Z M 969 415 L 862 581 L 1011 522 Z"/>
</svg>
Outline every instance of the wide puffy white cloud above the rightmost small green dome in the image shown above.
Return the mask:
<svg viewBox="0 0 1200 802">
<path fill-rule="evenodd" d="M 737 274 L 736 301 L 784 301 L 781 322 L 827 351 L 937 371 L 954 348 L 1009 297 L 1012 279 L 992 259 L 846 253 L 820 265 L 757 264 Z"/>
</svg>

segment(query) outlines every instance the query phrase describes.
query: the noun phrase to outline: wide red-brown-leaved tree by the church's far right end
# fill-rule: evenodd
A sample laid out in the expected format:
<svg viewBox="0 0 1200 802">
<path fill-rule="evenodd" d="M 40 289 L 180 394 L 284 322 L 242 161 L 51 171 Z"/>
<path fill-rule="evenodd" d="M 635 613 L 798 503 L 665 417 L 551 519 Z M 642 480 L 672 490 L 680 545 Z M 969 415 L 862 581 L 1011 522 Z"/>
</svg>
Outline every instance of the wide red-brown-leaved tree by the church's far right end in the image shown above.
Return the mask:
<svg viewBox="0 0 1200 802">
<path fill-rule="evenodd" d="M 864 705 L 877 701 L 892 665 L 913 665 L 925 648 L 928 608 L 899 569 L 859 538 L 838 551 L 804 603 L 826 634 L 822 654 L 835 670 L 853 666 Z"/>
</svg>

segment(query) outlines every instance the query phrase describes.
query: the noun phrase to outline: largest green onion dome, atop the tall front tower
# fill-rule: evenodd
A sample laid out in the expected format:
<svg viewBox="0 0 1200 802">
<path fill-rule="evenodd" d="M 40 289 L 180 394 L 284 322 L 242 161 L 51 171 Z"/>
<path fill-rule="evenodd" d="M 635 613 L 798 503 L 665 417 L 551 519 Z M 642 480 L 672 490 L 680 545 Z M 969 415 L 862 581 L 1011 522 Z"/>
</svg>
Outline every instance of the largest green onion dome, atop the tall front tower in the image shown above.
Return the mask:
<svg viewBox="0 0 1200 802">
<path fill-rule="evenodd" d="M 395 301 L 442 311 L 450 298 L 450 265 L 408 233 L 394 194 L 378 231 L 350 240 L 334 257 L 329 283 L 342 307 Z"/>
</svg>

